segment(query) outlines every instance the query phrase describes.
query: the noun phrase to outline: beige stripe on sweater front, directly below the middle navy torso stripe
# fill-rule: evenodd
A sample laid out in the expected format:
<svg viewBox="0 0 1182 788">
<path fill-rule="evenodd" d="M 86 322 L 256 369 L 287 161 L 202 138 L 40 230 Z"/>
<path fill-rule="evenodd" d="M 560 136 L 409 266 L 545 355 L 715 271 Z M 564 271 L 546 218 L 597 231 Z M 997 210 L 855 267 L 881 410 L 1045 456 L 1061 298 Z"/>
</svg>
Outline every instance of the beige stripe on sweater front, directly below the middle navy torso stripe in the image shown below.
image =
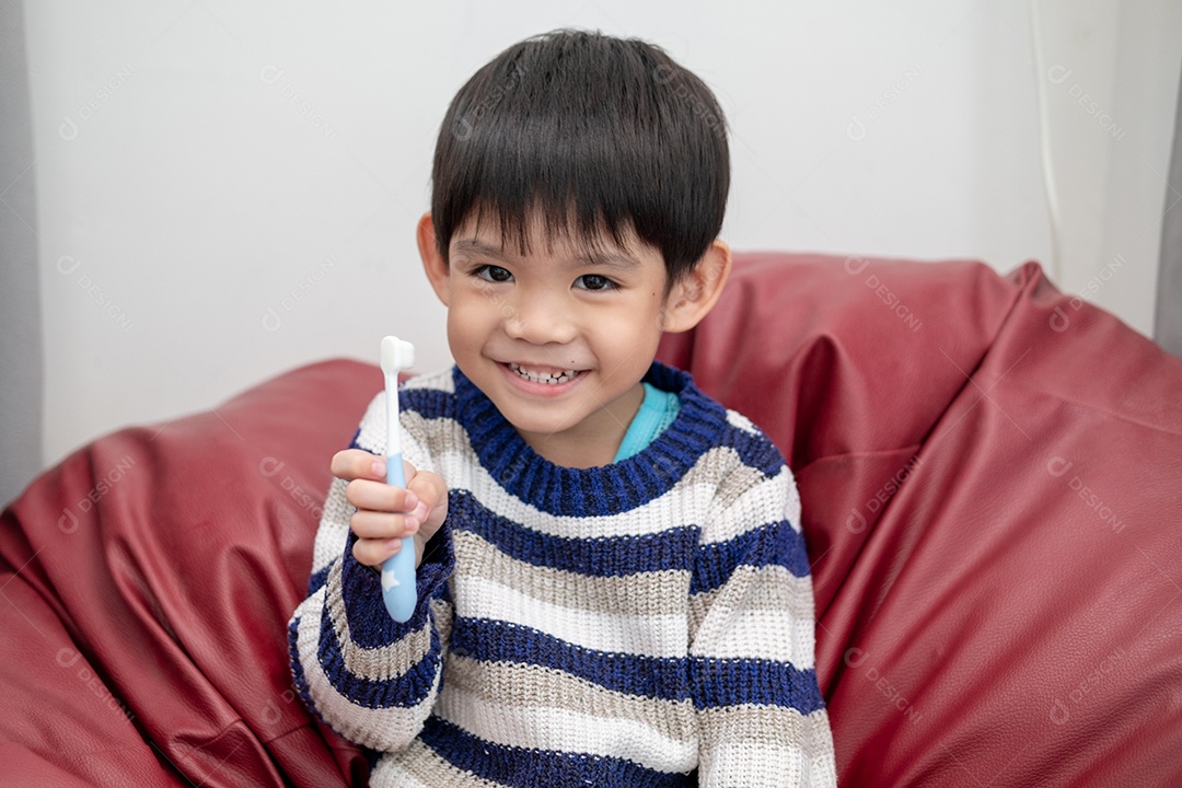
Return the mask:
<svg viewBox="0 0 1182 788">
<path fill-rule="evenodd" d="M 650 725 L 667 738 L 694 738 L 690 701 L 662 701 L 609 690 L 585 679 L 540 665 L 486 663 L 452 655 L 443 667 L 443 691 L 436 712 L 448 708 L 453 689 L 475 695 L 488 704 L 515 708 L 554 708 L 611 719 Z M 462 710 L 453 710 L 462 717 Z M 450 718 L 453 715 L 448 715 Z M 463 719 L 450 719 L 463 725 Z"/>
</svg>

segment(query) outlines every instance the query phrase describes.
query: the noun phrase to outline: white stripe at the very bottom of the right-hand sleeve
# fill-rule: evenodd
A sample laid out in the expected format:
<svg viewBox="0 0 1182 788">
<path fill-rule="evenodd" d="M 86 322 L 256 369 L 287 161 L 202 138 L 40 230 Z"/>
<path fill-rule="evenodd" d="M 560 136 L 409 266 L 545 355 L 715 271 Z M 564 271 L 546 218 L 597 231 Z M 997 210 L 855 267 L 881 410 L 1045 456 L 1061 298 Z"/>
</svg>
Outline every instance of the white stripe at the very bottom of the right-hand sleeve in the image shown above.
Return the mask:
<svg viewBox="0 0 1182 788">
<path fill-rule="evenodd" d="M 755 742 L 730 742 L 701 764 L 703 788 L 837 788 L 832 753 L 806 753 Z"/>
</svg>

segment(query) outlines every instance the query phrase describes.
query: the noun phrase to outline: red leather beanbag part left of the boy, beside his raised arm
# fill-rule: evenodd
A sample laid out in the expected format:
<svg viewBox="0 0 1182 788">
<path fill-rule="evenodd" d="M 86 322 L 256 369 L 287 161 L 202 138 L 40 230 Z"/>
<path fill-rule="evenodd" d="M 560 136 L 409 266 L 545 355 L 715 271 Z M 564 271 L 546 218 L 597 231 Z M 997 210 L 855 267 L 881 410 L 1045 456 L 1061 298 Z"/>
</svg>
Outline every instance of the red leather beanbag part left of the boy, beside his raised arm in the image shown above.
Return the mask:
<svg viewBox="0 0 1182 788">
<path fill-rule="evenodd" d="M 285 626 L 327 461 L 381 385 L 298 370 L 96 441 L 5 512 L 0 784 L 363 784 L 290 688 Z"/>
</svg>

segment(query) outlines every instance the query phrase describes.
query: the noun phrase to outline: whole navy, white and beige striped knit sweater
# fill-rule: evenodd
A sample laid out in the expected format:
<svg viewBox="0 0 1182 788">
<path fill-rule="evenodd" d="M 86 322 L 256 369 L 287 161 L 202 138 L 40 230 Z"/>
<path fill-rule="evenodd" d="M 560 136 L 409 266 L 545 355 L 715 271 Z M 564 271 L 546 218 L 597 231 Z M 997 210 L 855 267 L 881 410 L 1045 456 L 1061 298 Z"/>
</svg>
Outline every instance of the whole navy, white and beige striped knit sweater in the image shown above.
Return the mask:
<svg viewBox="0 0 1182 788">
<path fill-rule="evenodd" d="M 674 422 L 610 465 L 535 454 L 456 367 L 403 384 L 448 516 L 390 619 L 331 487 L 288 627 L 307 706 L 374 786 L 833 786 L 799 497 L 779 450 L 654 363 Z M 385 452 L 384 395 L 353 445 Z"/>
</svg>

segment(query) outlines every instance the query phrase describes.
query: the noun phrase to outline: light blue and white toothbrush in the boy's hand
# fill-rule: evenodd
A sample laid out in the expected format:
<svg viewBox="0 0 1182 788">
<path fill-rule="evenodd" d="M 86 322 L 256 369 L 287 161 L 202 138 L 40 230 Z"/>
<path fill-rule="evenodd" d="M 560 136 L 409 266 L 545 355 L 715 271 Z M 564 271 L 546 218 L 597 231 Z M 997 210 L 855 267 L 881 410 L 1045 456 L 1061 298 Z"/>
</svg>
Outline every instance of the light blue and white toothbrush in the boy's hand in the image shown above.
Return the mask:
<svg viewBox="0 0 1182 788">
<path fill-rule="evenodd" d="M 398 372 L 415 364 L 415 346 L 397 337 L 382 339 L 382 371 L 385 373 L 385 483 L 405 489 L 402 470 L 402 430 L 398 429 Z M 382 562 L 382 599 L 390 618 L 410 619 L 418 601 L 415 591 L 415 538 Z"/>
</svg>

